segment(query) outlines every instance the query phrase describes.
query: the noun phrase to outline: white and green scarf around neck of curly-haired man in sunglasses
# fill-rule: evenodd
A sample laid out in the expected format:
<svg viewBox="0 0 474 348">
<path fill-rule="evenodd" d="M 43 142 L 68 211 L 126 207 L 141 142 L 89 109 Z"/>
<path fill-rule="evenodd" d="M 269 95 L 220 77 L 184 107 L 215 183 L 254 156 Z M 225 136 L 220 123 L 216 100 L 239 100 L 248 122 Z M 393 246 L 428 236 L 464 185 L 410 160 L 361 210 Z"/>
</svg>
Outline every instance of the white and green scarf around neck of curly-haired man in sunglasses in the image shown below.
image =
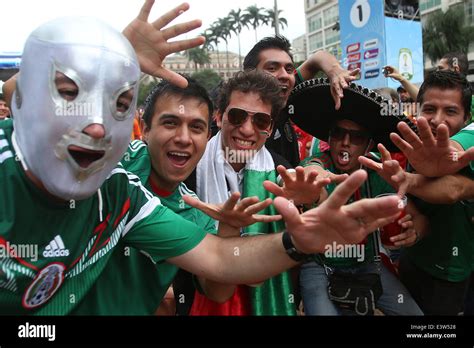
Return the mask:
<svg viewBox="0 0 474 348">
<path fill-rule="evenodd" d="M 248 160 L 243 173 L 236 173 L 225 160 L 222 150 L 221 132 L 207 144 L 206 151 L 196 170 L 196 193 L 208 203 L 224 203 L 232 192 L 239 191 L 239 175 L 243 174 L 242 197 L 258 196 L 260 201 L 274 198 L 265 190 L 263 182 L 277 182 L 278 173 L 268 150 L 263 146 Z M 260 214 L 276 215 L 273 205 Z M 255 223 L 243 229 L 243 235 L 277 233 L 284 230 L 282 221 Z M 295 315 L 294 294 L 289 272 L 283 272 L 266 280 L 259 287 L 250 288 L 250 298 L 254 315 Z"/>
</svg>

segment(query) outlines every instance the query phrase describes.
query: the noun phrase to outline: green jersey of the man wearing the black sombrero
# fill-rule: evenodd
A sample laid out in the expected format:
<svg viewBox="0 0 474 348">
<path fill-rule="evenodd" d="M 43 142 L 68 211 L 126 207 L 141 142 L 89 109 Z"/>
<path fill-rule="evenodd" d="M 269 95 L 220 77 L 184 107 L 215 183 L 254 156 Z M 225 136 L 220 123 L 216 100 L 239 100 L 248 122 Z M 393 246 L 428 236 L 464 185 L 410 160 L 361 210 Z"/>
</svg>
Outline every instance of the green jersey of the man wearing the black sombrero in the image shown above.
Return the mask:
<svg viewBox="0 0 474 348">
<path fill-rule="evenodd" d="M 314 165 L 317 164 L 314 160 L 319 160 L 324 168 L 331 173 L 340 174 L 335 167 L 331 155 L 329 151 L 318 152 L 315 156 L 307 157 L 305 160 L 302 161 L 302 166 Z M 370 193 L 372 197 L 376 197 L 383 193 L 393 193 L 395 190 L 391 187 L 386 181 L 384 181 L 375 171 L 368 170 L 368 182 L 370 183 Z M 330 195 L 336 188 L 336 184 L 330 183 L 326 186 L 326 190 Z M 361 188 L 358 190 L 359 197 L 357 199 L 367 198 L 367 185 L 362 185 Z M 355 195 L 351 197 L 348 203 L 352 203 L 355 200 Z M 360 255 L 359 257 L 342 257 L 339 256 L 338 251 L 344 254 L 341 250 L 342 248 L 338 248 L 334 251 L 334 246 L 331 249 L 327 249 L 325 254 L 320 254 L 323 258 L 324 263 L 328 266 L 334 267 L 356 267 L 363 263 L 372 262 L 374 260 L 374 243 L 373 243 L 374 234 L 370 234 L 368 238 L 365 240 L 365 247 L 364 247 L 364 257 L 361 260 Z M 329 247 L 329 246 L 328 246 Z M 337 246 L 336 246 L 337 248 Z M 332 257 L 328 257 L 332 254 Z M 347 252 L 346 252 L 347 254 Z"/>
</svg>

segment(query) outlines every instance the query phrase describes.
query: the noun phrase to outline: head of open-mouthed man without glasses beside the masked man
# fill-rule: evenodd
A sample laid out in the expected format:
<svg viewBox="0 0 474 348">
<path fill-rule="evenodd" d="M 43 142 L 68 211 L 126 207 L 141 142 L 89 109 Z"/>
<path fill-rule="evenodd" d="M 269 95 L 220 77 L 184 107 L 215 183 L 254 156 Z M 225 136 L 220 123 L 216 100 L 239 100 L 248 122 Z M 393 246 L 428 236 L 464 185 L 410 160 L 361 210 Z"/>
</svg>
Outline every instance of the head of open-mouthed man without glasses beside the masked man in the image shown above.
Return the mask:
<svg viewBox="0 0 474 348">
<path fill-rule="evenodd" d="M 146 104 L 142 129 L 154 168 L 150 182 L 172 192 L 194 170 L 206 149 L 212 103 L 205 90 L 188 79 L 185 90 L 169 83 L 157 85 Z"/>
</svg>

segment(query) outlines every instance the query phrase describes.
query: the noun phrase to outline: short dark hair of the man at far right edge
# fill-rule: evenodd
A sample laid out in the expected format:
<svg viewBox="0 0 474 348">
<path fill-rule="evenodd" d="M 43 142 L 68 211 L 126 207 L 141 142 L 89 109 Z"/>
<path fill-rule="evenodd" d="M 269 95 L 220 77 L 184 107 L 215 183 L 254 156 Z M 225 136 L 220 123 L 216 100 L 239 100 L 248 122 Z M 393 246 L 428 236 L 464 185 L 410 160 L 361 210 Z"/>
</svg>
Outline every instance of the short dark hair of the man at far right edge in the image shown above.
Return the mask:
<svg viewBox="0 0 474 348">
<path fill-rule="evenodd" d="M 433 71 L 426 77 L 420 87 L 416 101 L 423 104 L 423 98 L 428 89 L 439 88 L 441 90 L 457 89 L 462 95 L 462 106 L 464 108 L 464 118 L 468 118 L 471 112 L 472 89 L 466 77 L 454 71 Z"/>
</svg>

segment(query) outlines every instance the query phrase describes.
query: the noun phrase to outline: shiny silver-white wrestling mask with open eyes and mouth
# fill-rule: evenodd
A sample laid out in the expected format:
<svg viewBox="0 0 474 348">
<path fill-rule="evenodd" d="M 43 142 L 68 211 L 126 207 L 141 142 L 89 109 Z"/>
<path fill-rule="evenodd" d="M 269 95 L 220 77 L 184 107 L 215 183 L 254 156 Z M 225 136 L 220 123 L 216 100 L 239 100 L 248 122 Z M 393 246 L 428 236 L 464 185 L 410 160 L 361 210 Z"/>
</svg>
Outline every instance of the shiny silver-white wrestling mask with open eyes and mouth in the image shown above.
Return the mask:
<svg viewBox="0 0 474 348">
<path fill-rule="evenodd" d="M 84 199 L 102 185 L 130 141 L 139 76 L 127 39 L 96 19 L 56 19 L 29 36 L 12 102 L 13 140 L 48 192 Z M 84 132 L 93 124 L 104 137 Z"/>
</svg>

